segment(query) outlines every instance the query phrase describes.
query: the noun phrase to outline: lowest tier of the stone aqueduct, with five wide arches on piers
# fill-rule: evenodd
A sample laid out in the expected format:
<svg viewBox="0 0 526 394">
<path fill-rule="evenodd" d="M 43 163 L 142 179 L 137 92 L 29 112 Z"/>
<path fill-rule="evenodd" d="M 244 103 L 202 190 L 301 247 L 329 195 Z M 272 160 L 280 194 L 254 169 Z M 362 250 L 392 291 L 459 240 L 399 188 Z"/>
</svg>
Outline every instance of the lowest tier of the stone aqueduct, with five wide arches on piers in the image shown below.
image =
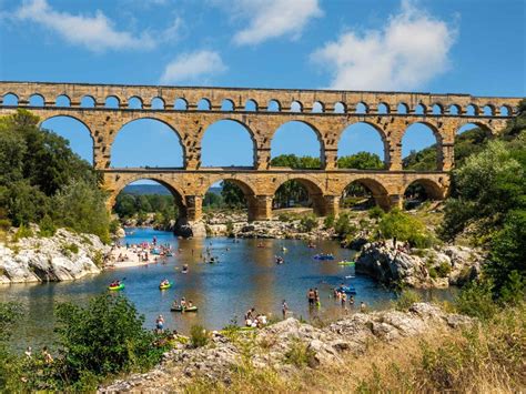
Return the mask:
<svg viewBox="0 0 526 394">
<path fill-rule="evenodd" d="M 174 195 L 182 221 L 201 220 L 206 191 L 213 184 L 226 180 L 243 192 L 250 221 L 272 219 L 275 193 L 287 181 L 305 188 L 307 202 L 318 216 L 336 216 L 342 199 L 348 194 L 348 186 L 353 184 L 358 185 L 358 190 L 366 190 L 366 196 L 385 211 L 402 208 L 407 195 L 415 194 L 412 192 L 415 185 L 424 192 L 419 194 L 431 200 L 445 199 L 449 190 L 449 174 L 446 172 L 119 169 L 103 171 L 102 175 L 104 189 L 109 193 L 109 210 L 128 184 L 150 180 L 161 183 Z"/>
</svg>

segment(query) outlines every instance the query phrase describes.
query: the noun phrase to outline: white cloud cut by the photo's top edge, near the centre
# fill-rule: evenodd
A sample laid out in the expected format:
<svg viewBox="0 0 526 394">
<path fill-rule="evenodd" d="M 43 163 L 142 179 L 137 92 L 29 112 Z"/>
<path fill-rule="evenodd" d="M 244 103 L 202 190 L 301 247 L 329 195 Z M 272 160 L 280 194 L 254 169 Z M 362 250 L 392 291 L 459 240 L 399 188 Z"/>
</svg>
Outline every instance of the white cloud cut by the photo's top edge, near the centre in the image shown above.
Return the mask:
<svg viewBox="0 0 526 394">
<path fill-rule="evenodd" d="M 287 34 L 296 39 L 311 19 L 323 16 L 317 0 L 231 0 L 227 6 L 240 19 L 249 20 L 249 26 L 234 34 L 240 46 Z"/>
</svg>

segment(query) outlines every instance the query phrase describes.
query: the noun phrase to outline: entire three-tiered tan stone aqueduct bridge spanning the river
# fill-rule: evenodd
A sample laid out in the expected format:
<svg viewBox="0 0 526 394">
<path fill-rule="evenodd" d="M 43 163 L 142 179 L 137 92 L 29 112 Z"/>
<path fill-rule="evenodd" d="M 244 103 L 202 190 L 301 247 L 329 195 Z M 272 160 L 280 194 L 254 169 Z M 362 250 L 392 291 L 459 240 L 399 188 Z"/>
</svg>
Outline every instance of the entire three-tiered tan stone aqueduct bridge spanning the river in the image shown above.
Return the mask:
<svg viewBox="0 0 526 394">
<path fill-rule="evenodd" d="M 14 95 L 16 103 L 4 104 Z M 30 105 L 32 97 L 40 97 L 42 105 Z M 58 97 L 65 97 L 69 105 L 57 105 Z M 103 174 L 110 192 L 109 206 L 130 182 L 150 179 L 168 186 L 175 195 L 181 212 L 191 221 L 201 218 L 202 199 L 219 180 L 232 180 L 245 193 L 251 220 L 266 220 L 272 215 L 272 199 L 277 188 L 287 180 L 297 180 L 310 193 L 317 214 L 337 214 L 340 196 L 352 182 L 368 188 L 378 205 L 388 209 L 402 202 L 406 188 L 418 181 L 435 199 L 447 194 L 448 171 L 454 165 L 454 140 L 457 130 L 474 123 L 490 134 L 497 134 L 508 118 L 515 115 L 518 98 L 483 98 L 468 94 L 431 94 L 397 92 L 357 92 L 322 90 L 180 88 L 153 85 L 115 85 L 85 83 L 0 82 L 0 114 L 14 108 L 28 108 L 41 121 L 65 115 L 82 122 L 93 140 L 93 164 Z M 85 98 L 93 108 L 84 108 Z M 118 108 L 107 108 L 108 98 Z M 140 109 L 130 109 L 131 99 Z M 175 110 L 176 100 L 184 103 Z M 198 102 L 208 109 L 198 109 Z M 152 109 L 152 102 L 162 104 Z M 270 111 L 274 101 L 277 111 Z M 252 102 L 252 110 L 246 104 Z M 224 110 L 224 104 L 227 110 Z M 402 104 L 402 105 L 401 105 Z M 468 115 L 467 108 L 473 112 Z M 357 113 L 357 107 L 364 108 Z M 201 107 L 199 107 L 201 108 Z M 399 111 L 399 109 L 405 111 Z M 482 109 L 486 112 L 483 115 Z M 316 109 L 316 112 L 313 110 Z M 402 113 L 404 112 L 404 113 Z M 155 119 L 168 124 L 179 135 L 184 152 L 182 169 L 114 169 L 111 147 L 119 130 L 138 119 Z M 253 168 L 201 168 L 201 140 L 209 125 L 220 120 L 241 123 L 251 134 L 254 147 Z M 289 121 L 308 124 L 321 145 L 322 169 L 291 170 L 272 168 L 271 140 L 274 132 Z M 351 124 L 368 123 L 380 133 L 384 144 L 383 171 L 337 169 L 337 144 Z M 424 123 L 436 138 L 437 166 L 432 172 L 402 170 L 402 138 L 413 123 Z"/>
</svg>

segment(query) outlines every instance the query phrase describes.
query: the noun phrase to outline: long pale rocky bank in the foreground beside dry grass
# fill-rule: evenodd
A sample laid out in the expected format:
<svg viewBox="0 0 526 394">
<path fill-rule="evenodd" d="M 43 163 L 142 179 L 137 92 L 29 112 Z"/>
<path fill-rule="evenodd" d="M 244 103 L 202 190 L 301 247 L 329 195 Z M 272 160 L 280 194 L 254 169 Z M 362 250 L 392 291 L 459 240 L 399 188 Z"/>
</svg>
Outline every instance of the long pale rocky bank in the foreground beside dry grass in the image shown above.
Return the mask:
<svg viewBox="0 0 526 394">
<path fill-rule="evenodd" d="M 291 317 L 257 331 L 213 332 L 202 347 L 178 336 L 174 348 L 153 371 L 115 381 L 99 392 L 184 392 L 203 380 L 227 385 L 247 368 L 272 371 L 285 378 L 302 368 L 331 366 L 337 372 L 346 357 L 360 357 L 374 343 L 396 346 L 405 337 L 469 324 L 469 317 L 416 303 L 408 312 L 356 313 L 323 329 Z"/>
</svg>

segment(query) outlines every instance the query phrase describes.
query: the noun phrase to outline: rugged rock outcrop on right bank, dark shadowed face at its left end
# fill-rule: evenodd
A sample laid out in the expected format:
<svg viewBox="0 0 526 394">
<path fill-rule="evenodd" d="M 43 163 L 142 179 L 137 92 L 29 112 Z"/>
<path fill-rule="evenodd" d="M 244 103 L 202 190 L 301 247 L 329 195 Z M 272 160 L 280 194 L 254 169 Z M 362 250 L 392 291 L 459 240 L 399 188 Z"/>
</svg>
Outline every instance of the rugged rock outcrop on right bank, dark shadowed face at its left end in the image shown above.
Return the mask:
<svg viewBox="0 0 526 394">
<path fill-rule="evenodd" d="M 355 269 L 386 284 L 447 287 L 476 277 L 483 263 L 479 251 L 464 246 L 407 251 L 375 242 L 363 246 Z"/>
</svg>

